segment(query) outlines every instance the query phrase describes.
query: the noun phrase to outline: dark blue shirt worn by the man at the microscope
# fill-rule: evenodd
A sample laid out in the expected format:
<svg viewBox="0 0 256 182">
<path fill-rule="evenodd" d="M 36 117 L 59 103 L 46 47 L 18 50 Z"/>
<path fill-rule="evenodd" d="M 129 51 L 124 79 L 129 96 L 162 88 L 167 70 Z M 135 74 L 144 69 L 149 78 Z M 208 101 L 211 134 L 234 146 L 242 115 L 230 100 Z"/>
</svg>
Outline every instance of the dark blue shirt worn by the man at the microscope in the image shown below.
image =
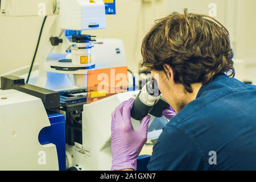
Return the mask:
<svg viewBox="0 0 256 182">
<path fill-rule="evenodd" d="M 256 86 L 225 74 L 168 122 L 149 170 L 256 170 Z"/>
</svg>

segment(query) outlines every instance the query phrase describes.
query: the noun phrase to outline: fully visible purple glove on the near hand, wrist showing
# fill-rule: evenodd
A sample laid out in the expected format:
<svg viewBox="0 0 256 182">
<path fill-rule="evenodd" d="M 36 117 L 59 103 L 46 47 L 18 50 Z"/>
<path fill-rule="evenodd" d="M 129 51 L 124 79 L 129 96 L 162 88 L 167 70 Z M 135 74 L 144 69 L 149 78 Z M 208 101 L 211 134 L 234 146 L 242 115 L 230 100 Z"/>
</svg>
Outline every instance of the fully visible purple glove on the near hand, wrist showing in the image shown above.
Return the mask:
<svg viewBox="0 0 256 182">
<path fill-rule="evenodd" d="M 112 113 L 112 170 L 137 169 L 137 158 L 147 141 L 150 115 L 142 119 L 138 130 L 131 125 L 131 108 L 134 99 L 122 102 Z"/>
</svg>

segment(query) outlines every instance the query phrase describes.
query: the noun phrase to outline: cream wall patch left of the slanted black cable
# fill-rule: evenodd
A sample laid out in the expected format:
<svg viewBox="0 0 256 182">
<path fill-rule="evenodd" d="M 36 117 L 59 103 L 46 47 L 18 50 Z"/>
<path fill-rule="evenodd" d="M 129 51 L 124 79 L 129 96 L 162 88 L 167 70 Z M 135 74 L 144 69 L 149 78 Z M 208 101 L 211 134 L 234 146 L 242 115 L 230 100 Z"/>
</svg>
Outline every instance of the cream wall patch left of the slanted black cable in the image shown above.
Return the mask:
<svg viewBox="0 0 256 182">
<path fill-rule="evenodd" d="M 0 16 L 0 75 L 30 65 L 43 18 Z"/>
</svg>

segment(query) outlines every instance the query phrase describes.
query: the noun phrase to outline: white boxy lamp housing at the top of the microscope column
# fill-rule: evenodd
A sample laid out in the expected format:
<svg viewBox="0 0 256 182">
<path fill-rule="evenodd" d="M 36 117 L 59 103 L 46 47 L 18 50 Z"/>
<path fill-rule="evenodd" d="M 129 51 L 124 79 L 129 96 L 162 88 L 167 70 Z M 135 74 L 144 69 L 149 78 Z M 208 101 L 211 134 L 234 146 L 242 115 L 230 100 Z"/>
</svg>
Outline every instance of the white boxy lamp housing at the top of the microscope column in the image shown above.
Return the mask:
<svg viewBox="0 0 256 182">
<path fill-rule="evenodd" d="M 96 30 L 106 28 L 105 4 L 102 0 L 61 0 L 60 28 Z M 94 27 L 90 27 L 94 26 Z"/>
</svg>

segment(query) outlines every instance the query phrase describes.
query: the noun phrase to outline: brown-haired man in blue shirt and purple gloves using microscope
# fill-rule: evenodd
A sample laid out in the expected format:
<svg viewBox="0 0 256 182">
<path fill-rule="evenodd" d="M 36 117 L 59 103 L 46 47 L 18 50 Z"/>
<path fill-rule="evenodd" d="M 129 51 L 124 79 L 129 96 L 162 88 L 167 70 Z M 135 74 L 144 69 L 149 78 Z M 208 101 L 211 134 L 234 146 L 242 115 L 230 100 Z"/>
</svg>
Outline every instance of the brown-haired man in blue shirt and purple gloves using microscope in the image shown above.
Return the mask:
<svg viewBox="0 0 256 182">
<path fill-rule="evenodd" d="M 256 86 L 232 78 L 226 28 L 187 9 L 172 13 L 145 36 L 142 56 L 177 113 L 164 126 L 148 169 L 256 170 Z M 146 142 L 150 117 L 134 130 L 132 106 L 133 98 L 112 113 L 112 170 L 136 170 Z M 163 114 L 173 116 L 171 110 Z"/>
</svg>

